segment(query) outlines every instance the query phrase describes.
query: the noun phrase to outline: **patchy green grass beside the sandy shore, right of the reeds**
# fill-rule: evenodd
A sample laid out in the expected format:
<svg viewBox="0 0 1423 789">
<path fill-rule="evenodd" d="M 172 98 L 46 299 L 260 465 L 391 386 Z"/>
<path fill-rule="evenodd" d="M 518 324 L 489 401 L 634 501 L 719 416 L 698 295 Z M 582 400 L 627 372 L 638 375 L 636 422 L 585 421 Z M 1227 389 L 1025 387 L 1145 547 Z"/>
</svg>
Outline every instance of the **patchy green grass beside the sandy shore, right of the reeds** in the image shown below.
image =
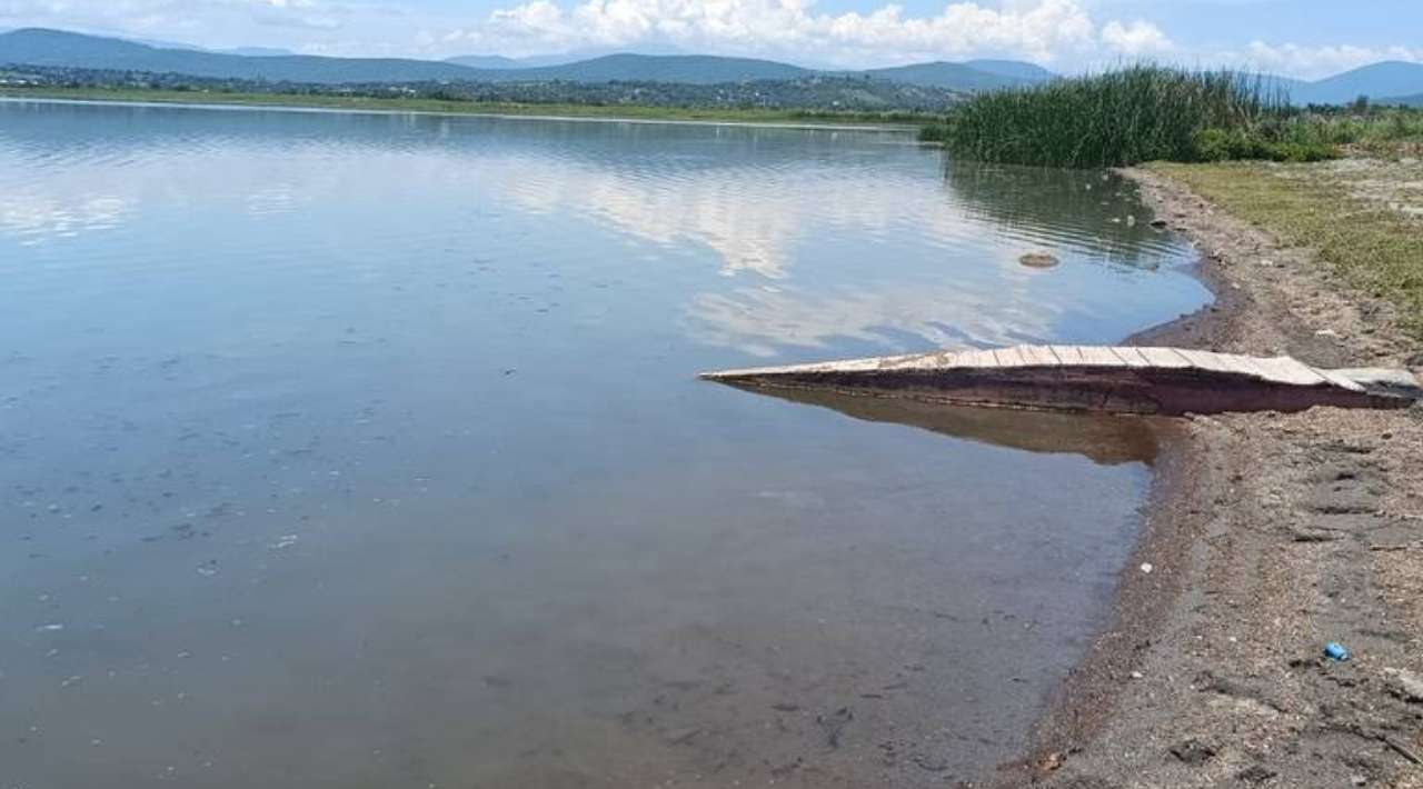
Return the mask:
<svg viewBox="0 0 1423 789">
<path fill-rule="evenodd" d="M 1281 240 L 1316 249 L 1355 287 L 1400 310 L 1423 340 L 1423 165 L 1342 162 L 1177 165 L 1150 169 L 1188 185 Z"/>
</svg>

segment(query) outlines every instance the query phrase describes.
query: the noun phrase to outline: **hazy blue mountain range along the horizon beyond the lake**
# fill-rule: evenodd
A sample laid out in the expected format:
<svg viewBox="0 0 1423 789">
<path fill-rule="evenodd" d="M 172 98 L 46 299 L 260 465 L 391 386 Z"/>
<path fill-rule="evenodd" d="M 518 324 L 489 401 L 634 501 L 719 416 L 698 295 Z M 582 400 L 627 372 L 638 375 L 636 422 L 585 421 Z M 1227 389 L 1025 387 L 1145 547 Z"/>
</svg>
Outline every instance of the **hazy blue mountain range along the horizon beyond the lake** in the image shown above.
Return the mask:
<svg viewBox="0 0 1423 789">
<path fill-rule="evenodd" d="M 578 57 L 578 55 L 571 55 Z M 208 51 L 186 45 L 155 45 L 63 30 L 26 28 L 0 33 L 0 64 L 61 68 L 151 71 L 213 80 L 272 82 L 677 82 L 713 85 L 761 80 L 864 77 L 918 87 L 975 92 L 1036 85 L 1057 75 L 1030 63 L 970 60 L 918 63 L 865 71 L 827 71 L 771 60 L 689 54 L 605 54 L 566 61 L 558 55 L 507 58 L 467 55 L 445 61 L 411 58 L 337 58 L 296 55 L 283 50 L 245 47 Z M 1265 77 L 1296 104 L 1345 104 L 1360 95 L 1375 101 L 1419 102 L 1423 64 L 1387 61 L 1319 81 Z M 1405 100 L 1402 97 L 1412 97 Z"/>
</svg>

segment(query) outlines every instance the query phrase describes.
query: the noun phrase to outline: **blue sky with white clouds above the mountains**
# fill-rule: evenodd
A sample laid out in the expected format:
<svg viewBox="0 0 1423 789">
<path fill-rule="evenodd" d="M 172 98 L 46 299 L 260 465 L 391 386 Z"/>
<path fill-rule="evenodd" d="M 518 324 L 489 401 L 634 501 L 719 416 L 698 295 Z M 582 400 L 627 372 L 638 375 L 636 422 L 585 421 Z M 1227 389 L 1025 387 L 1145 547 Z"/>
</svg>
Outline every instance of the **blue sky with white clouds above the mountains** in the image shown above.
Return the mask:
<svg viewBox="0 0 1423 789">
<path fill-rule="evenodd" d="M 710 53 L 818 67 L 1006 57 L 1322 77 L 1423 63 L 1423 0 L 0 0 L 0 30 L 443 58 Z"/>
</svg>

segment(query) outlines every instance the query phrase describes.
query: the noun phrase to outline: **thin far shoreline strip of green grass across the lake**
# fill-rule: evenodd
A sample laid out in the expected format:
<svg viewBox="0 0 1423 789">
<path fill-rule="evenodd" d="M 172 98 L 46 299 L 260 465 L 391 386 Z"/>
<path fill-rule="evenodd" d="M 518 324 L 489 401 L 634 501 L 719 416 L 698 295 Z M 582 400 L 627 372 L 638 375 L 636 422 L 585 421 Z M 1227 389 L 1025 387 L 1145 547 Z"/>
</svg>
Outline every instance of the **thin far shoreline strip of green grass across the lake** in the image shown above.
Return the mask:
<svg viewBox="0 0 1423 789">
<path fill-rule="evenodd" d="M 195 94 L 201 95 L 201 94 Z M 221 95 L 221 94 L 212 94 Z M 263 102 L 263 101 L 248 101 L 248 100 L 233 100 L 222 101 L 212 100 L 198 101 L 196 98 L 164 98 L 164 97 L 121 97 L 121 95 L 104 95 L 101 91 L 87 92 L 87 91 L 14 91 L 14 90 L 0 90 L 0 101 L 6 102 L 40 102 L 40 104 L 67 104 L 67 105 L 97 105 L 97 107 L 151 107 L 151 108 L 182 108 L 182 109 L 222 109 L 222 111 L 266 111 L 266 112 L 330 112 L 342 115 L 417 115 L 417 117 L 434 117 L 434 118 L 495 118 L 504 121 L 561 121 L 561 122 L 588 122 L 588 124 L 656 124 L 656 125 L 686 125 L 686 127 L 739 127 L 739 128 L 767 128 L 767 129 L 790 129 L 790 131 L 847 131 L 847 132 L 895 132 L 895 134 L 911 134 L 918 131 L 918 125 L 914 124 L 895 124 L 888 121 L 797 121 L 794 118 L 777 119 L 754 119 L 754 118 L 739 118 L 737 114 L 717 114 L 714 111 L 679 111 L 667 108 L 666 112 L 639 117 L 636 114 L 623 112 L 619 114 L 618 108 L 603 108 L 588 105 L 586 114 L 582 112 L 564 112 L 556 111 L 511 111 L 502 105 L 480 105 L 471 102 L 470 107 L 451 105 L 441 108 L 401 108 L 401 107 L 381 107 L 381 100 L 370 100 L 366 102 L 353 102 L 349 107 L 343 105 L 324 105 L 320 102 Z M 532 107 L 532 105 L 529 105 Z M 555 107 L 555 105 L 551 105 Z M 568 105 L 556 105 L 569 109 Z M 608 111 L 605 111 L 608 109 Z"/>
</svg>

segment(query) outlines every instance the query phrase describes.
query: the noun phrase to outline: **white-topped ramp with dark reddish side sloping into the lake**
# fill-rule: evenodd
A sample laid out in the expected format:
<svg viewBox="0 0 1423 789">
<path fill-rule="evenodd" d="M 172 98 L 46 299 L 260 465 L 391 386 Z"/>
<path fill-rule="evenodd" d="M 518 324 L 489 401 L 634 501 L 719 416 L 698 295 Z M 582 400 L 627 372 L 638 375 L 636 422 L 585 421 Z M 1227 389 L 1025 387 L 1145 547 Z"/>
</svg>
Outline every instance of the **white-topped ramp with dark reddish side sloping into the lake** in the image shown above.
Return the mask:
<svg viewBox="0 0 1423 789">
<path fill-rule="evenodd" d="M 1104 345 L 938 351 L 702 377 L 748 388 L 1107 414 L 1406 408 L 1423 398 L 1407 370 L 1321 370 L 1289 357 Z"/>
</svg>

